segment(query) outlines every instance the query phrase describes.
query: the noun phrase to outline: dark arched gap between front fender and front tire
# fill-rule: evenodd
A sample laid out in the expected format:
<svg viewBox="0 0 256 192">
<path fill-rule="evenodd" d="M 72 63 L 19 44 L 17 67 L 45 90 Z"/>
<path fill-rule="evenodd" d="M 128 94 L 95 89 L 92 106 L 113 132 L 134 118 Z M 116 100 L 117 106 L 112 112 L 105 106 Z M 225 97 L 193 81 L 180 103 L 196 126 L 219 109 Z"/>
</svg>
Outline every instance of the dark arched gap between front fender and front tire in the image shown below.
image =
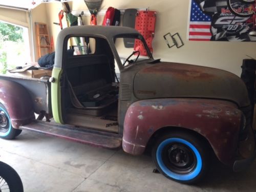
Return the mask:
<svg viewBox="0 0 256 192">
<path fill-rule="evenodd" d="M 184 127 L 176 127 L 176 126 L 166 126 L 166 127 L 162 127 L 161 129 L 157 130 L 150 138 L 150 140 L 148 140 L 147 142 L 147 145 L 146 145 L 146 153 L 151 153 L 152 151 L 152 147 L 153 147 L 153 144 L 154 144 L 154 141 L 161 135 L 163 134 L 166 134 L 166 133 L 172 133 L 172 132 L 175 132 L 175 131 L 184 131 L 186 133 L 189 133 L 191 135 L 194 135 L 196 136 L 197 138 L 199 138 L 201 141 L 203 141 L 206 146 L 208 146 L 210 148 L 210 150 L 212 152 L 214 152 L 212 150 L 212 147 L 209 143 L 209 141 L 204 137 L 202 136 L 201 134 L 199 134 L 198 132 L 196 131 L 193 131 L 193 130 L 189 130 L 189 129 L 186 129 Z"/>
</svg>

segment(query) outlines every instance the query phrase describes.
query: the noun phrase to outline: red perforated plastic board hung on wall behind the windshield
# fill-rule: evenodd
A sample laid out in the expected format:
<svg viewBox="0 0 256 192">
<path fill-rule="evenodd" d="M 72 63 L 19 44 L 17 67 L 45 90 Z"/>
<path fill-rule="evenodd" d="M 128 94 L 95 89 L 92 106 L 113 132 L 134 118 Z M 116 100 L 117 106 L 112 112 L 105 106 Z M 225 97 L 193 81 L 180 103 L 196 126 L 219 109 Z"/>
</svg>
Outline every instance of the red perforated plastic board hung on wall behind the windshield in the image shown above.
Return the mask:
<svg viewBox="0 0 256 192">
<path fill-rule="evenodd" d="M 152 40 L 155 35 L 156 15 L 155 11 L 138 11 L 135 20 L 135 29 L 145 38 L 151 53 L 153 53 Z M 140 55 L 147 55 L 142 42 L 138 39 L 135 40 L 134 50 L 139 51 Z"/>
</svg>

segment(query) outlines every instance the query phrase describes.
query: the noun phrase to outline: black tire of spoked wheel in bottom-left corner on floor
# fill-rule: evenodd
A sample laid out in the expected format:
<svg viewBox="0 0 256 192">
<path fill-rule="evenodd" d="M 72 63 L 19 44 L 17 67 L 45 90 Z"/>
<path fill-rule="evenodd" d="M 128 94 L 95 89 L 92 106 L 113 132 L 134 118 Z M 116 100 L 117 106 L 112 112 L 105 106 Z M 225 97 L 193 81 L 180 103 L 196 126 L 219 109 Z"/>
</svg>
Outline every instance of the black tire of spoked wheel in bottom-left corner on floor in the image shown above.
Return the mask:
<svg viewBox="0 0 256 192">
<path fill-rule="evenodd" d="M 0 162 L 0 170 L 0 191 L 24 191 L 22 180 L 10 165 Z"/>
</svg>

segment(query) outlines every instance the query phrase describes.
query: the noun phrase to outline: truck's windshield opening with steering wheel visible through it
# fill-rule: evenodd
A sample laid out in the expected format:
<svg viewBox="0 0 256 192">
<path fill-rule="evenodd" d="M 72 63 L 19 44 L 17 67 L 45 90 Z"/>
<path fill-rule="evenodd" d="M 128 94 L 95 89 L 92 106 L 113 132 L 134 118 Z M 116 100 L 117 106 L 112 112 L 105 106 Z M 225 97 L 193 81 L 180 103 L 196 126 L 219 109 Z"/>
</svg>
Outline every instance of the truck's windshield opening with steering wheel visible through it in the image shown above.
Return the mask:
<svg viewBox="0 0 256 192">
<path fill-rule="evenodd" d="M 118 37 L 115 38 L 115 46 L 124 67 L 150 58 L 139 38 Z"/>
</svg>

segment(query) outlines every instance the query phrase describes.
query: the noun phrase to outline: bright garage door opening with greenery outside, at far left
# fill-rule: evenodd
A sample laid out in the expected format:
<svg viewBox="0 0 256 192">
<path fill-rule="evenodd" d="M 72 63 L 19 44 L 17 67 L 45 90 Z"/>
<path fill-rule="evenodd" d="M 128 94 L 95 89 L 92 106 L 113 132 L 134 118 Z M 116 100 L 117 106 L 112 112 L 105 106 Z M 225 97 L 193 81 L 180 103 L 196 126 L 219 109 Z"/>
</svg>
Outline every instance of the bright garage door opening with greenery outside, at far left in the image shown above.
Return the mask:
<svg viewBox="0 0 256 192">
<path fill-rule="evenodd" d="M 28 28 L 0 20 L 0 74 L 30 61 Z"/>
</svg>

